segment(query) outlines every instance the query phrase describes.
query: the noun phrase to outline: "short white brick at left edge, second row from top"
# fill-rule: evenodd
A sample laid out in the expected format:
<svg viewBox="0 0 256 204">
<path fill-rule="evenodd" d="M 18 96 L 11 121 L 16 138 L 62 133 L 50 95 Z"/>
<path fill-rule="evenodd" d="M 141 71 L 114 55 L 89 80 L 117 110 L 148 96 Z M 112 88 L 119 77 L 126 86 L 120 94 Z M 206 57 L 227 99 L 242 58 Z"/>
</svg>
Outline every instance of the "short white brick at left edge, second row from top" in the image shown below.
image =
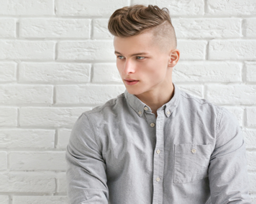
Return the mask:
<svg viewBox="0 0 256 204">
<path fill-rule="evenodd" d="M 0 38 L 14 38 L 16 36 L 16 21 L 14 18 L 1 18 L 0 28 Z"/>
</svg>

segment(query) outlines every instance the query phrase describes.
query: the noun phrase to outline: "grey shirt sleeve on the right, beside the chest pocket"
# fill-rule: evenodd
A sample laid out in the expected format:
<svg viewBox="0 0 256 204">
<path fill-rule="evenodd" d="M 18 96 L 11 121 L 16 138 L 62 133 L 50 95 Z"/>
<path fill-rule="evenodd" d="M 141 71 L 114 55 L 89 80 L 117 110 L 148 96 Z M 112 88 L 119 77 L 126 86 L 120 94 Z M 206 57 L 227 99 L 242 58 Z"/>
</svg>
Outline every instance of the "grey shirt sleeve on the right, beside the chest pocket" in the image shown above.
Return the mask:
<svg viewBox="0 0 256 204">
<path fill-rule="evenodd" d="M 249 204 L 245 142 L 237 119 L 223 109 L 216 131 L 208 169 L 211 202 Z"/>
</svg>

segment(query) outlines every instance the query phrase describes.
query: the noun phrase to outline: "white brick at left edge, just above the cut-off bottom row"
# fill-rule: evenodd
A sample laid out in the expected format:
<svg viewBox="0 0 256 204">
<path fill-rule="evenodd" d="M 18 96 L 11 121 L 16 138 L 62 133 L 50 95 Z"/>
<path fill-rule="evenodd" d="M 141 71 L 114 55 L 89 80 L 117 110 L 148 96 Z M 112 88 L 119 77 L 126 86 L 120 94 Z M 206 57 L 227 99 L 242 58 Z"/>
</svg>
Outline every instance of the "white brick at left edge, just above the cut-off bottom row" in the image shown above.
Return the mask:
<svg viewBox="0 0 256 204">
<path fill-rule="evenodd" d="M 52 172 L 6 172 L 0 174 L 0 192 L 54 193 Z"/>
</svg>

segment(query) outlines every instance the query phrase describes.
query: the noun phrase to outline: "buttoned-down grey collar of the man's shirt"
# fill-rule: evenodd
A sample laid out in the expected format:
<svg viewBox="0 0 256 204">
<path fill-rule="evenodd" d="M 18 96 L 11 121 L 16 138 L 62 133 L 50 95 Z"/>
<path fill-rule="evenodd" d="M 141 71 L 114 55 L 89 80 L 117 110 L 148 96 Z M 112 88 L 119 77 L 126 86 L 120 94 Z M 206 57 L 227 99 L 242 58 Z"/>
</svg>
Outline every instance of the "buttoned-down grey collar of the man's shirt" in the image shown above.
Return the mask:
<svg viewBox="0 0 256 204">
<path fill-rule="evenodd" d="M 172 115 L 173 111 L 177 108 L 180 100 L 180 89 L 177 85 L 174 85 L 174 96 L 166 104 L 164 104 L 160 109 L 163 109 L 166 117 Z M 130 94 L 127 90 L 124 91 L 124 96 L 127 100 L 127 103 L 136 111 L 136 113 L 141 117 L 144 111 L 151 112 L 151 108 L 144 104 L 139 98 L 135 95 Z"/>
</svg>

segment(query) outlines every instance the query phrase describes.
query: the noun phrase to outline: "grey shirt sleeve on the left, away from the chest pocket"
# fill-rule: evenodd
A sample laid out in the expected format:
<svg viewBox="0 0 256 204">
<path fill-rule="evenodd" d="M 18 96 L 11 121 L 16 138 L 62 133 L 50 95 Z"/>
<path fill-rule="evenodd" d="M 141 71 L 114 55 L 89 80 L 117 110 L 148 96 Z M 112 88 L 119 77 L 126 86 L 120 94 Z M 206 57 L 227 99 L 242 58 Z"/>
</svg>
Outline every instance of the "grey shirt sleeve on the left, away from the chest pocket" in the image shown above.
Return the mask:
<svg viewBox="0 0 256 204">
<path fill-rule="evenodd" d="M 71 204 L 107 204 L 106 165 L 88 117 L 82 114 L 71 132 L 66 151 L 67 185 Z"/>
</svg>

